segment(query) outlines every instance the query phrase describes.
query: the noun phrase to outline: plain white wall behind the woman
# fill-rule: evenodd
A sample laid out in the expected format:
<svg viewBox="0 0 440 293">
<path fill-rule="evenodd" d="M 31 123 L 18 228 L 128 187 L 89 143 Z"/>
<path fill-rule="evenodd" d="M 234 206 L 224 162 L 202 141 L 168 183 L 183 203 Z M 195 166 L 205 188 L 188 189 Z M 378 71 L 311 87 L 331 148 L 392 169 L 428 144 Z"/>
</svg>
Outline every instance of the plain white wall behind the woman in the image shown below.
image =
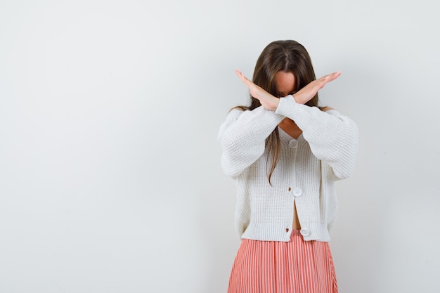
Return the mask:
<svg viewBox="0 0 440 293">
<path fill-rule="evenodd" d="M 361 131 L 339 292 L 438 292 L 439 2 L 0 1 L 0 292 L 226 292 L 219 125 L 295 39 Z"/>
</svg>

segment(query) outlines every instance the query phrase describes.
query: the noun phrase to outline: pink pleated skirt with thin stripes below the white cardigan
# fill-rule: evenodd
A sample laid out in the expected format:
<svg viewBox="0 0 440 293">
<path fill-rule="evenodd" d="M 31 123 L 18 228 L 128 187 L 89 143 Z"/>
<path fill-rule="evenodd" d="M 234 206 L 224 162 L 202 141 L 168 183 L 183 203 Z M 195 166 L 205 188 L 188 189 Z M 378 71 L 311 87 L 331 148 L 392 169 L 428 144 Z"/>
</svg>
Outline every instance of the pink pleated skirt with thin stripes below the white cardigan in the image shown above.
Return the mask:
<svg viewBox="0 0 440 293">
<path fill-rule="evenodd" d="M 328 242 L 243 239 L 233 263 L 228 293 L 337 293 Z"/>
</svg>

